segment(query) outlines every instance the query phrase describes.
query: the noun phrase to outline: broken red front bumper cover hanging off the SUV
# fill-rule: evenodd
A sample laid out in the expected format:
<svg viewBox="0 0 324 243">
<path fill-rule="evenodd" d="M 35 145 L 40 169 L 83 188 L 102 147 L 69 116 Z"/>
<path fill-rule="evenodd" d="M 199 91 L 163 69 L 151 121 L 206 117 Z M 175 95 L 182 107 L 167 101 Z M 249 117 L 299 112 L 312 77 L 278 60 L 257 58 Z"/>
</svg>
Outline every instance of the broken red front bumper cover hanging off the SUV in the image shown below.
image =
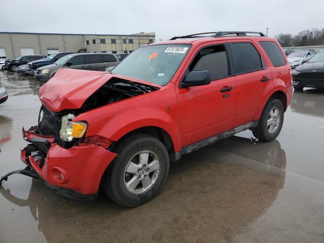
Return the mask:
<svg viewBox="0 0 324 243">
<path fill-rule="evenodd" d="M 39 135 L 37 131 L 36 126 L 22 130 L 23 138 L 30 142 L 21 150 L 23 163 L 52 188 L 97 194 L 102 175 L 117 154 L 93 144 L 66 149 L 55 143 L 54 137 Z"/>
</svg>

